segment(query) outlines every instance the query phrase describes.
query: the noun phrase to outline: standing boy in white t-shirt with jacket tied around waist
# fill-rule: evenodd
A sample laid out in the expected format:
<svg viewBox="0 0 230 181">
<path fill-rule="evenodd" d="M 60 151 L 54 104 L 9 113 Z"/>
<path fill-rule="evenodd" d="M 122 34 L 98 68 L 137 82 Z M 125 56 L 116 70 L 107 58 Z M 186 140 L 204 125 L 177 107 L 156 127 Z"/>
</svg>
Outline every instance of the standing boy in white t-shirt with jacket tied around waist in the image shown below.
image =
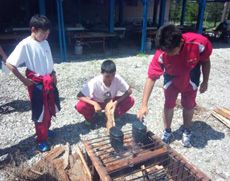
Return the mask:
<svg viewBox="0 0 230 181">
<path fill-rule="evenodd" d="M 23 39 L 6 60 L 7 67 L 28 87 L 31 101 L 32 120 L 35 122 L 38 149 L 49 150 L 48 135 L 51 117 L 60 110 L 57 79 L 48 41 L 50 21 L 42 15 L 30 19 L 31 36 Z M 25 64 L 26 76 L 17 69 Z"/>
</svg>

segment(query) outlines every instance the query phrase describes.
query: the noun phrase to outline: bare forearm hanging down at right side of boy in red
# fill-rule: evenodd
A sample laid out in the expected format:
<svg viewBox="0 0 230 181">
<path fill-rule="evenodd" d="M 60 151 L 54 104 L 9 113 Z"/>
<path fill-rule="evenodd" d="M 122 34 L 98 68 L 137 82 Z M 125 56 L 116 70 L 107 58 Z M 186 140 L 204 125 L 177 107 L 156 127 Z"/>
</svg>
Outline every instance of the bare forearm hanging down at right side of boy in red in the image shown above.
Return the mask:
<svg viewBox="0 0 230 181">
<path fill-rule="evenodd" d="M 200 84 L 200 93 L 204 93 L 208 89 L 208 80 L 209 80 L 209 74 L 211 69 L 210 60 L 202 61 L 201 67 L 202 67 L 203 81 Z"/>
</svg>

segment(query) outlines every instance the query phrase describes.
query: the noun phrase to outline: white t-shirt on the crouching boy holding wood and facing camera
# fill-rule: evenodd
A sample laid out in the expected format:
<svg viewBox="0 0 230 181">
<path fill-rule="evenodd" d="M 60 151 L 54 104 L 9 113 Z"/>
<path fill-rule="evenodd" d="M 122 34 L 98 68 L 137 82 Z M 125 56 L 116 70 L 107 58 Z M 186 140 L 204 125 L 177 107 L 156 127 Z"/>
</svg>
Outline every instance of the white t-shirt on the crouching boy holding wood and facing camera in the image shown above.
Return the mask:
<svg viewBox="0 0 230 181">
<path fill-rule="evenodd" d="M 107 98 L 121 96 L 129 89 L 127 82 L 118 74 L 107 87 L 103 82 L 103 75 L 98 75 L 83 85 L 81 92 L 84 96 L 90 97 L 97 102 L 104 102 Z"/>
</svg>

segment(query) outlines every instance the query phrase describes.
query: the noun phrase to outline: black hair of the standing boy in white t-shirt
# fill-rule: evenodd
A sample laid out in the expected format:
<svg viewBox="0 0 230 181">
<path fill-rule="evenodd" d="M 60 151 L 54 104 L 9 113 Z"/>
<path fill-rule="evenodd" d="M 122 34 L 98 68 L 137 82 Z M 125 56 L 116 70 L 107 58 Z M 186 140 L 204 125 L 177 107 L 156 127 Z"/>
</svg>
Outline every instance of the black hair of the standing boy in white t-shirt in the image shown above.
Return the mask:
<svg viewBox="0 0 230 181">
<path fill-rule="evenodd" d="M 51 28 L 50 20 L 44 15 L 34 15 L 30 19 L 30 28 L 41 29 L 47 31 Z"/>
</svg>

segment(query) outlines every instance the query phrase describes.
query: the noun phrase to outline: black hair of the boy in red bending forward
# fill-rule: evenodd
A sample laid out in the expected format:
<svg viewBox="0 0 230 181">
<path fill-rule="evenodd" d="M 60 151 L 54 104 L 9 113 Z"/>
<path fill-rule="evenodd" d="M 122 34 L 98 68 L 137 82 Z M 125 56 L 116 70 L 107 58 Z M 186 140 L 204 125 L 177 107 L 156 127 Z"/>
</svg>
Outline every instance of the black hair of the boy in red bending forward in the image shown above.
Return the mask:
<svg viewBox="0 0 230 181">
<path fill-rule="evenodd" d="M 160 27 L 155 38 L 155 45 L 157 49 L 163 51 L 171 51 L 180 46 L 182 33 L 173 24 L 168 24 Z"/>
</svg>

